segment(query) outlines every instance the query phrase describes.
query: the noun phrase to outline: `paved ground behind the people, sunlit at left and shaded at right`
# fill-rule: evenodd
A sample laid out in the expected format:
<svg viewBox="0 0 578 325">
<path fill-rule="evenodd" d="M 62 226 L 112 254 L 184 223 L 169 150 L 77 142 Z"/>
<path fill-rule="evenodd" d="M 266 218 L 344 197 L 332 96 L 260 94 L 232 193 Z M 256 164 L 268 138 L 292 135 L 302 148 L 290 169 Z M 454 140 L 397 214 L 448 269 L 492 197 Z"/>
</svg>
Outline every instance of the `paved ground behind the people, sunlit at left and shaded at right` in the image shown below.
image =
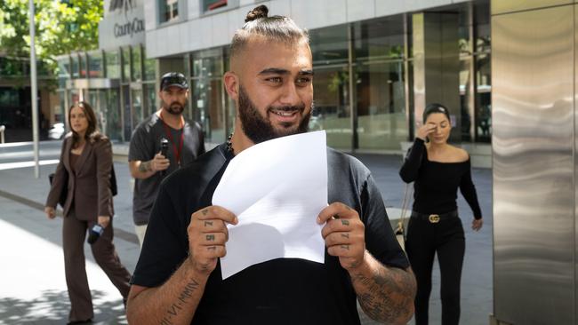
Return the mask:
<svg viewBox="0 0 578 325">
<path fill-rule="evenodd" d="M 61 218 L 45 218 L 48 174 L 55 169 L 60 141 L 41 142 L 41 177 L 30 167 L 29 143 L 0 146 L 0 324 L 63 324 L 68 317 L 68 293 L 61 251 Z M 400 156 L 357 155 L 373 172 L 389 214 L 398 214 L 404 184 L 397 176 Z M 28 167 L 27 167 L 28 166 Z M 118 195 L 115 197 L 116 250 L 129 271 L 139 246 L 132 225 L 130 175 L 124 156 L 116 156 Z M 473 170 L 485 217 L 484 229 L 473 233 L 471 211 L 462 196 L 459 207 L 466 226 L 466 258 L 462 274 L 462 324 L 486 325 L 492 312 L 492 172 Z M 95 323 L 124 324 L 120 294 L 94 263 L 85 245 L 86 269 L 95 306 Z M 439 276 L 435 266 L 430 323 L 440 323 Z M 362 316 L 365 325 L 375 324 Z"/>
</svg>

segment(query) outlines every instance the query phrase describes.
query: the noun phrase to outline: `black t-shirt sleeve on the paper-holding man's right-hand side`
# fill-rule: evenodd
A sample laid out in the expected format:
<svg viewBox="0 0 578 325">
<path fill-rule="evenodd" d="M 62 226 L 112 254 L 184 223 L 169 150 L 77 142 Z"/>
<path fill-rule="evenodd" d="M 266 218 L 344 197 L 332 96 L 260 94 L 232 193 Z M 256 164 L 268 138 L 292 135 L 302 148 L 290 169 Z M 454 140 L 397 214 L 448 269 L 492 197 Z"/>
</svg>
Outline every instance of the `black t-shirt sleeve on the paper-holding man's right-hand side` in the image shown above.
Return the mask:
<svg viewBox="0 0 578 325">
<path fill-rule="evenodd" d="M 361 192 L 362 220 L 365 224 L 365 247 L 385 266 L 409 267 L 389 224 L 381 193 L 369 175 Z"/>
</svg>

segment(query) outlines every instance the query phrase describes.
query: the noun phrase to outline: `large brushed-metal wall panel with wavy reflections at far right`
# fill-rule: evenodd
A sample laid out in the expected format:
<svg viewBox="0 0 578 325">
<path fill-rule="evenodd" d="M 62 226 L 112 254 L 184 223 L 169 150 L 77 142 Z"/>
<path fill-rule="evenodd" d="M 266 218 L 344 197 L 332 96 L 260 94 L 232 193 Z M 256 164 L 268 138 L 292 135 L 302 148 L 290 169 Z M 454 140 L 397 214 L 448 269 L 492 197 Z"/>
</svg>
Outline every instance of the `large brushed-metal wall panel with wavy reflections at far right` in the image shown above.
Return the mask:
<svg viewBox="0 0 578 325">
<path fill-rule="evenodd" d="M 494 315 L 575 324 L 574 6 L 493 16 L 492 42 Z"/>
</svg>

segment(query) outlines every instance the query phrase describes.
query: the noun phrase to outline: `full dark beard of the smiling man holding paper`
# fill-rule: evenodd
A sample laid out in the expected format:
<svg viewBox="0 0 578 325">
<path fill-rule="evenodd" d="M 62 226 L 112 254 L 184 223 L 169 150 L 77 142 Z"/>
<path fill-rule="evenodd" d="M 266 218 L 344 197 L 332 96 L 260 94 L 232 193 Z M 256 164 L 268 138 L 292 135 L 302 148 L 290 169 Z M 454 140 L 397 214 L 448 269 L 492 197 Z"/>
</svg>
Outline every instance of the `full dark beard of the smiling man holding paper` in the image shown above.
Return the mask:
<svg viewBox="0 0 578 325">
<path fill-rule="evenodd" d="M 263 117 L 259 113 L 259 110 L 253 104 L 253 101 L 249 99 L 243 86 L 239 86 L 239 118 L 241 120 L 241 128 L 247 138 L 251 139 L 254 144 L 309 131 L 311 111 L 309 110 L 309 113 L 303 115 L 305 112 L 305 104 L 301 103 L 300 106 L 269 107 L 267 112 L 272 109 L 297 111 L 302 115 L 301 122 L 297 125 L 293 125 L 293 123 L 282 123 L 281 129 L 276 129 L 269 121 L 269 118 Z M 265 116 L 267 116 L 267 112 Z"/>
</svg>

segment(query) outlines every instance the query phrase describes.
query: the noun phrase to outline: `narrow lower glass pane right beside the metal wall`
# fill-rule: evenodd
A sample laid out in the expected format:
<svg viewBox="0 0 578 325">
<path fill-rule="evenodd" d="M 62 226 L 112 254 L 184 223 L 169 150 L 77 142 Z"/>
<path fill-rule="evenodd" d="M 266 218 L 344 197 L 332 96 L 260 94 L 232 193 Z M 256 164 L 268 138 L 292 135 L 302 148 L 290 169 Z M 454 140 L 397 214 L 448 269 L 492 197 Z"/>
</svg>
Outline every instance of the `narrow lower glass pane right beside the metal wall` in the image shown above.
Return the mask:
<svg viewBox="0 0 578 325">
<path fill-rule="evenodd" d="M 492 77 L 490 54 L 476 57 L 476 139 L 478 142 L 492 140 Z"/>
</svg>

